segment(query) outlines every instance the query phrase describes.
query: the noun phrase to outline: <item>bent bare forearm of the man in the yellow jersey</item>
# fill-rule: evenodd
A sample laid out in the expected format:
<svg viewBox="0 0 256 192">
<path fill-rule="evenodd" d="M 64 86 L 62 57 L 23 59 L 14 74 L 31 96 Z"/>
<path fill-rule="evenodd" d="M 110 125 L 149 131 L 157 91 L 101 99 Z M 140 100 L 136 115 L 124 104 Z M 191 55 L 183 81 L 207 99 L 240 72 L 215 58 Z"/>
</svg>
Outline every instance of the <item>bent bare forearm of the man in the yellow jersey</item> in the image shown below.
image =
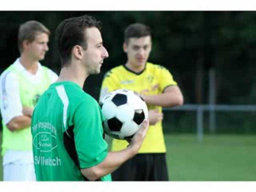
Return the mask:
<svg viewBox="0 0 256 192">
<path fill-rule="evenodd" d="M 183 95 L 178 86 L 169 86 L 158 95 L 142 95 L 147 104 L 174 107 L 183 104 Z"/>
</svg>

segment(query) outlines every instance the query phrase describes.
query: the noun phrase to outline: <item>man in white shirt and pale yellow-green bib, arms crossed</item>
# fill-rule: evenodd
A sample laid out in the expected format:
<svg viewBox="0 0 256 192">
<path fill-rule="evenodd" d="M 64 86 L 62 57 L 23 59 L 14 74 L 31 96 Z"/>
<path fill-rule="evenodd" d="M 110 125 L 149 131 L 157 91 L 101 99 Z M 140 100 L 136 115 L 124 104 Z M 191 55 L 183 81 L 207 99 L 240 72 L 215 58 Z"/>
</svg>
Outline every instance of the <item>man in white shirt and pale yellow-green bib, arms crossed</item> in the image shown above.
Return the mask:
<svg viewBox="0 0 256 192">
<path fill-rule="evenodd" d="M 48 51 L 50 31 L 28 21 L 18 32 L 20 58 L 0 77 L 4 181 L 34 181 L 31 116 L 36 102 L 58 76 L 39 61 Z"/>
</svg>

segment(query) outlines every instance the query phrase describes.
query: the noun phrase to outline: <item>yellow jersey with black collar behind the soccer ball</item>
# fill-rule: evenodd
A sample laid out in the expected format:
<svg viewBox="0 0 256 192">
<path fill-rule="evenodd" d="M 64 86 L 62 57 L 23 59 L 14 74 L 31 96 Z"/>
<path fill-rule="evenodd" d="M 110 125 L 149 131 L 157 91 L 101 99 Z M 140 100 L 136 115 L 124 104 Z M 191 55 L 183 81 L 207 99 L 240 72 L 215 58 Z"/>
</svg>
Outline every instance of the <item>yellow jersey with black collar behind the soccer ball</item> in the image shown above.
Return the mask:
<svg viewBox="0 0 256 192">
<path fill-rule="evenodd" d="M 157 95 L 164 92 L 168 86 L 176 86 L 170 72 L 163 66 L 146 63 L 145 69 L 140 73 L 135 73 L 126 68 L 118 66 L 106 73 L 102 82 L 101 96 L 116 89 L 130 89 L 144 95 Z M 157 109 L 162 112 L 161 106 L 148 105 L 148 110 Z M 112 150 L 119 151 L 128 143 L 125 140 L 113 140 Z M 139 153 L 162 153 L 166 152 L 162 122 L 150 126 L 147 136 L 139 150 Z"/>
</svg>

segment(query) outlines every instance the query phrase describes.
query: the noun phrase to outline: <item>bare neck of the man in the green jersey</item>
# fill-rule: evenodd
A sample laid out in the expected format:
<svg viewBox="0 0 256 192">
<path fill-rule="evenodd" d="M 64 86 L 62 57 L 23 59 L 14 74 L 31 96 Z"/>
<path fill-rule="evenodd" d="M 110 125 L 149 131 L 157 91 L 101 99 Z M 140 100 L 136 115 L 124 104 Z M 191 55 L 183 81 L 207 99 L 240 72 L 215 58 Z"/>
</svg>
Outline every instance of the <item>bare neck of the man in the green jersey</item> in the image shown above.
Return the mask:
<svg viewBox="0 0 256 192">
<path fill-rule="evenodd" d="M 71 81 L 83 88 L 87 77 L 88 75 L 84 72 L 84 70 L 79 68 L 79 65 L 70 64 L 62 67 L 60 70 L 60 76 L 56 82 Z"/>
</svg>

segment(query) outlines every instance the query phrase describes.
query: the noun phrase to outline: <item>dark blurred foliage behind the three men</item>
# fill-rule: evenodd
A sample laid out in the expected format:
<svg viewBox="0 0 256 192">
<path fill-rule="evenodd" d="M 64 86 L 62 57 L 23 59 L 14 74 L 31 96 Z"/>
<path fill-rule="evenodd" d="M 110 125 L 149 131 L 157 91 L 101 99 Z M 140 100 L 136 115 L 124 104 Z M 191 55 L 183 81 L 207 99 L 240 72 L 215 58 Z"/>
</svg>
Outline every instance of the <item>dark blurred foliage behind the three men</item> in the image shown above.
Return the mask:
<svg viewBox="0 0 256 192">
<path fill-rule="evenodd" d="M 27 20 L 38 20 L 52 32 L 50 51 L 42 63 L 59 73 L 54 31 L 62 20 L 83 14 L 95 16 L 102 22 L 102 38 L 109 52 L 100 75 L 90 76 L 84 85 L 84 90 L 96 100 L 106 71 L 126 62 L 122 51 L 124 29 L 129 24 L 142 22 L 152 29 L 149 61 L 170 70 L 184 94 L 185 103 L 209 102 L 210 68 L 216 72 L 216 104 L 256 103 L 256 12 L 0 12 L 0 70 L 19 56 L 18 26 Z M 253 117 L 254 114 L 245 124 L 253 122 Z M 194 117 L 180 120 L 189 124 Z"/>
</svg>

